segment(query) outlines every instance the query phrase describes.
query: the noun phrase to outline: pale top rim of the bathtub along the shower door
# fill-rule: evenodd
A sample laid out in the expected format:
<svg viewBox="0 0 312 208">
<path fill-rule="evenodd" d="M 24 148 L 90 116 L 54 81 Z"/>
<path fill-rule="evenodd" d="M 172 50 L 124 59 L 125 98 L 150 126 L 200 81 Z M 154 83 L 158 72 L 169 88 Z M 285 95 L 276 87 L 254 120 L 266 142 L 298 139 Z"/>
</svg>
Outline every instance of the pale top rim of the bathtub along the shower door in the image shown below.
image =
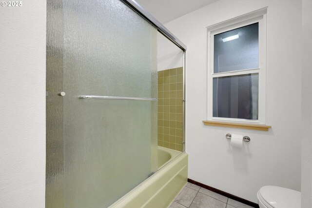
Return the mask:
<svg viewBox="0 0 312 208">
<path fill-rule="evenodd" d="M 165 148 L 165 147 L 163 147 Z M 170 149 L 172 150 L 172 149 Z M 176 151 L 176 150 L 174 150 Z M 165 163 L 163 166 L 159 167 L 159 169 L 157 170 L 157 172 L 155 174 L 153 174 L 152 176 L 150 176 L 149 178 L 147 178 L 146 180 L 144 180 L 142 183 L 140 183 L 139 185 L 137 185 L 137 187 L 134 187 L 132 190 L 130 190 L 128 193 L 126 193 L 124 196 L 122 196 L 120 199 L 118 199 L 116 202 L 114 202 L 112 205 L 110 205 L 108 208 L 116 208 L 118 207 L 121 203 L 123 203 L 125 200 L 127 200 L 129 197 L 131 197 L 132 195 L 136 194 L 136 192 L 140 191 L 140 188 L 143 187 L 144 185 L 148 185 L 149 183 L 153 183 L 154 179 L 156 177 L 158 177 L 158 175 L 160 175 L 162 172 L 167 171 L 167 168 L 162 168 L 162 167 L 168 167 L 170 168 L 170 166 L 175 165 L 175 161 L 180 159 L 181 157 L 184 157 L 186 154 L 185 151 L 180 152 L 179 155 L 177 155 L 175 158 L 169 160 L 169 162 Z"/>
</svg>

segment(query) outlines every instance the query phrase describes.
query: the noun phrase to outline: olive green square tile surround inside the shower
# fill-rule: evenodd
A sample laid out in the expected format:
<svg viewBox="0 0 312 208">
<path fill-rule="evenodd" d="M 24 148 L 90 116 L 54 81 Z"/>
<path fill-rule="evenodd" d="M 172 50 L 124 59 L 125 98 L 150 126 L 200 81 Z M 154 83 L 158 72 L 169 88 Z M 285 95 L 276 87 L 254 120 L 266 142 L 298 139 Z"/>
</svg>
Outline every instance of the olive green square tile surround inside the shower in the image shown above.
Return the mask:
<svg viewBox="0 0 312 208">
<path fill-rule="evenodd" d="M 158 146 L 182 151 L 183 68 L 158 71 Z"/>
</svg>

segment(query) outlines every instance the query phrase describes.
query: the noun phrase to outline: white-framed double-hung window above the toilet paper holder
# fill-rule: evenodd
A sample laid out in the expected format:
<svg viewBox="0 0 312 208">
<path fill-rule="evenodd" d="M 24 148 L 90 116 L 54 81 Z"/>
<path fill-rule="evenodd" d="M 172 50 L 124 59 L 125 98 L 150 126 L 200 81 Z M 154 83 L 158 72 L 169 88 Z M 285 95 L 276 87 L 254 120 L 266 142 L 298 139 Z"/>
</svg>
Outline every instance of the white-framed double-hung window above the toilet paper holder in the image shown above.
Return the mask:
<svg viewBox="0 0 312 208">
<path fill-rule="evenodd" d="M 266 12 L 207 28 L 207 119 L 266 123 Z"/>
</svg>

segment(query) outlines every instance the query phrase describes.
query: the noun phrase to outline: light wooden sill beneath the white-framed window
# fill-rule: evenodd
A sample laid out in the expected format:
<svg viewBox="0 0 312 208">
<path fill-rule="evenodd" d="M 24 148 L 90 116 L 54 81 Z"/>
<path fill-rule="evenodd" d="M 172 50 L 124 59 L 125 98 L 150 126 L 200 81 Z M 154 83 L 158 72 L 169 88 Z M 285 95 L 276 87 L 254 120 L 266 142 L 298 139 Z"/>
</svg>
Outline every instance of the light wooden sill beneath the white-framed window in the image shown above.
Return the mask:
<svg viewBox="0 0 312 208">
<path fill-rule="evenodd" d="M 222 126 L 230 128 L 244 128 L 252 129 L 258 131 L 269 131 L 271 125 L 261 125 L 261 124 L 243 124 L 243 123 L 234 123 L 234 122 L 218 122 L 218 121 L 203 121 L 204 125 L 213 125 L 213 126 Z"/>
</svg>

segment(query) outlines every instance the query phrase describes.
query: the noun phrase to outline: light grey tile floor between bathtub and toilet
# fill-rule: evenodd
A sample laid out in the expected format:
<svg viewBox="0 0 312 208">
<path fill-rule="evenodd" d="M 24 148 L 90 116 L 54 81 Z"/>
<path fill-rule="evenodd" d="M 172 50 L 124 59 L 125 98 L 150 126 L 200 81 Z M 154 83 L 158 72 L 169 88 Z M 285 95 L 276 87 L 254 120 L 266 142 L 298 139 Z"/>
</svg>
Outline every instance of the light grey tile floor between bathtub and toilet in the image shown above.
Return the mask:
<svg viewBox="0 0 312 208">
<path fill-rule="evenodd" d="M 187 183 L 169 208 L 253 208 L 211 190 Z"/>
</svg>

